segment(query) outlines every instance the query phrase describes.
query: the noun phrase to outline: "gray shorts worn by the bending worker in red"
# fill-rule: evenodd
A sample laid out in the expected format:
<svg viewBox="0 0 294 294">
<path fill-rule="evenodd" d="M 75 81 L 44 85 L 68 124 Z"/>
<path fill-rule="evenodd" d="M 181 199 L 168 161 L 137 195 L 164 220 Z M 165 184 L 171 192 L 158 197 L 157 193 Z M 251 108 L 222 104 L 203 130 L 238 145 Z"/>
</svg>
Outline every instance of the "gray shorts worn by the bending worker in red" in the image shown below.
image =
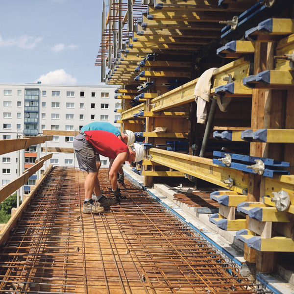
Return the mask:
<svg viewBox="0 0 294 294">
<path fill-rule="evenodd" d="M 83 133 L 74 137 L 73 149 L 82 172 L 97 172 L 96 162 L 100 162 L 100 156 L 88 143 Z"/>
</svg>

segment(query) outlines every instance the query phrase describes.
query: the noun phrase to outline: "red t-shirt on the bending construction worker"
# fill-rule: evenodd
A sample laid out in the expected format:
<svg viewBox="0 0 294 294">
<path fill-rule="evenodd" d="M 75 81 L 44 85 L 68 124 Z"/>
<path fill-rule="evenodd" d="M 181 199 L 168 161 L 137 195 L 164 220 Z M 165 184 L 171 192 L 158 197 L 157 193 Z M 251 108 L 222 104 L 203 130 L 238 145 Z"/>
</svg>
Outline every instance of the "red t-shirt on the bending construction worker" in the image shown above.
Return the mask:
<svg viewBox="0 0 294 294">
<path fill-rule="evenodd" d="M 119 153 L 128 151 L 128 147 L 113 133 L 97 130 L 84 133 L 95 151 L 105 157 L 116 158 Z"/>
</svg>

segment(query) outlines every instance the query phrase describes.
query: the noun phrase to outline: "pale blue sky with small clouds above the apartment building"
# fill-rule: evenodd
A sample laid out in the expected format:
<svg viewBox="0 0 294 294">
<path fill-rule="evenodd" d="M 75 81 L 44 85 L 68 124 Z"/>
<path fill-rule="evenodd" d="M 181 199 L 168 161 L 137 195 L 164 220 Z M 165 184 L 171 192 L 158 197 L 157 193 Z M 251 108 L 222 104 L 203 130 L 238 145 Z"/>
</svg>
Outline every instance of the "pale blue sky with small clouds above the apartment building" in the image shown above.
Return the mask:
<svg viewBox="0 0 294 294">
<path fill-rule="evenodd" d="M 100 83 L 102 0 L 1 0 L 0 7 L 0 83 Z"/>
</svg>

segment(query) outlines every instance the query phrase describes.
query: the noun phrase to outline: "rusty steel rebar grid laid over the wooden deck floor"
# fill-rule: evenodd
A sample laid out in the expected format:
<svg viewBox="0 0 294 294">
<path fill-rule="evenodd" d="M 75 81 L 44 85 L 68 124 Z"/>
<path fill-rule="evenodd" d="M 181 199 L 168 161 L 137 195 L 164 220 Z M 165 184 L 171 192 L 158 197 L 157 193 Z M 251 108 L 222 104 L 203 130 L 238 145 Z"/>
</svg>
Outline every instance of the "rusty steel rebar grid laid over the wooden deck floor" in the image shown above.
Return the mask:
<svg viewBox="0 0 294 294">
<path fill-rule="evenodd" d="M 85 176 L 49 174 L 1 244 L 1 293 L 266 293 L 128 179 L 121 205 L 83 214 Z M 99 179 L 111 197 L 106 170 Z"/>
</svg>

